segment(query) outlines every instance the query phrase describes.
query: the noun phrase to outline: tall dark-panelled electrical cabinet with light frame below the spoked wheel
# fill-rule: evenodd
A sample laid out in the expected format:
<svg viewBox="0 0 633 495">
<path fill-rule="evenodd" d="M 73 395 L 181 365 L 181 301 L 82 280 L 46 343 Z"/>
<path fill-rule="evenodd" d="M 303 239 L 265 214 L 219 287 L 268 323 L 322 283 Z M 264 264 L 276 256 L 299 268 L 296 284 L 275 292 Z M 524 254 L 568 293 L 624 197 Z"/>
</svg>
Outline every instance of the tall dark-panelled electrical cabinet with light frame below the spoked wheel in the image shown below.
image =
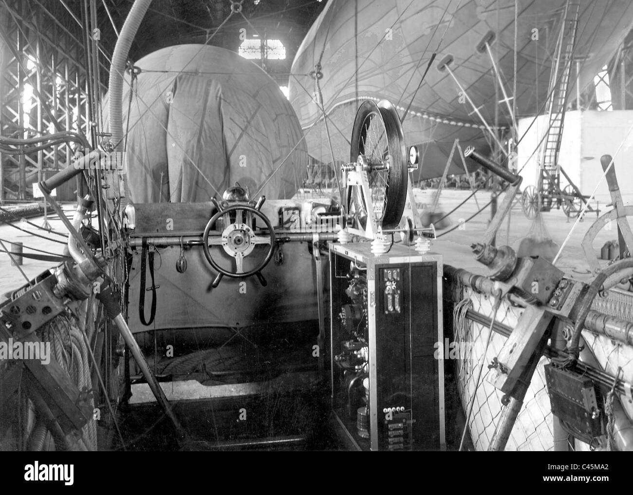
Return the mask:
<svg viewBox="0 0 633 495">
<path fill-rule="evenodd" d="M 442 256 L 330 244 L 332 410 L 360 450 L 445 447 Z"/>
</svg>

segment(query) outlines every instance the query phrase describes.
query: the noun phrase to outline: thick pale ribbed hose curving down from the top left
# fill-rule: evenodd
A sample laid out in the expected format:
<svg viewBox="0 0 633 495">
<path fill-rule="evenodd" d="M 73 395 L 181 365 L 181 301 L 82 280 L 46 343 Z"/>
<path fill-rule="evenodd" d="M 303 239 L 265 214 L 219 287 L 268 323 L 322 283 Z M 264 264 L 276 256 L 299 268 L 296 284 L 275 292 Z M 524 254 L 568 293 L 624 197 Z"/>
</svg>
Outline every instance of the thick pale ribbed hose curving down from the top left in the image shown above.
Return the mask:
<svg viewBox="0 0 633 495">
<path fill-rule="evenodd" d="M 130 13 L 128 13 L 125 23 L 121 28 L 115 51 L 112 54 L 112 65 L 110 66 L 110 80 L 108 81 L 108 115 L 110 118 L 110 132 L 112 134 L 112 144 L 115 150 L 122 149 L 123 146 L 123 73 L 125 73 L 125 63 L 130 53 L 132 41 L 136 35 L 141 21 L 149 8 L 152 0 L 135 0 Z"/>
</svg>

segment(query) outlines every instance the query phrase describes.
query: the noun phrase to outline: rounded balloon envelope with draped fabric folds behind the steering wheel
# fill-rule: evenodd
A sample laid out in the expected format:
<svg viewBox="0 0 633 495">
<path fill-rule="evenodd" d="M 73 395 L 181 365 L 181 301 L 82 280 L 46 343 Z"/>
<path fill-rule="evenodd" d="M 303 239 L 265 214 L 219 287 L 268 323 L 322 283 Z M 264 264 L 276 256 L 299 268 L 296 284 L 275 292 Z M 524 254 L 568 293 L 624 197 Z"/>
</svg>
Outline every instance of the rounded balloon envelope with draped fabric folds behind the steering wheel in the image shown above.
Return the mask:
<svg viewBox="0 0 633 495">
<path fill-rule="evenodd" d="M 251 196 L 265 183 L 260 194 L 292 197 L 308 165 L 303 132 L 259 66 L 199 44 L 160 49 L 134 66 L 122 104 L 131 201 L 209 201 L 235 182 Z M 107 127 L 107 96 L 103 108 Z"/>
</svg>

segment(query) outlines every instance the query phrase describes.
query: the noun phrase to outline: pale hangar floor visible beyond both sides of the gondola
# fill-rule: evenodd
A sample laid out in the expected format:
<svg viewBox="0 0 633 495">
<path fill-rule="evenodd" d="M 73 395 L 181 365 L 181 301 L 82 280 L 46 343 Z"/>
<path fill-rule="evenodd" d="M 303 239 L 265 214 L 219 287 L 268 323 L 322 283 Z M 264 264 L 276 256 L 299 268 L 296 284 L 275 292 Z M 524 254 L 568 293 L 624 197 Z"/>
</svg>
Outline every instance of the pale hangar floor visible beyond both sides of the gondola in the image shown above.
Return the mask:
<svg viewBox="0 0 633 495">
<path fill-rule="evenodd" d="M 425 191 L 416 191 L 416 202 L 417 203 L 425 203 L 432 204 L 432 195 L 434 191 L 425 190 Z M 454 189 L 447 189 L 442 192 L 441 198 L 439 201 L 439 208 L 443 211 L 450 211 L 459 204 L 463 199 L 465 199 L 470 194 L 470 191 L 457 191 Z M 499 203 L 501 203 L 501 199 L 499 198 Z M 479 210 L 477 203 L 479 206 L 484 206 L 490 200 L 490 192 L 477 192 L 475 197 L 472 197 L 465 203 L 461 208 L 455 211 L 451 216 L 451 222 L 453 225 L 456 225 L 460 222 L 460 218 L 468 218 L 470 215 L 475 213 L 475 211 Z M 66 204 L 64 205 L 64 210 L 66 214 L 70 217 L 73 215 L 73 211 L 75 210 L 75 205 Z M 570 229 L 572 229 L 574 225 L 574 220 L 568 220 L 562 210 L 552 210 L 548 213 L 542 213 L 542 218 L 544 220 L 544 224 L 549 234 L 553 238 L 553 240 L 559 245 L 562 244 L 565 237 L 567 236 Z M 479 241 L 486 231 L 487 222 L 490 219 L 490 210 L 487 208 L 480 215 L 475 216 L 470 222 L 465 223 L 464 229 L 455 229 L 453 232 L 450 232 L 447 235 L 444 235 L 434 241 L 432 243 L 432 251 L 436 253 L 441 253 L 444 255 L 444 263 L 448 263 L 454 266 L 460 266 L 460 268 L 466 268 L 467 270 L 471 270 L 473 272 L 485 274 L 487 269 L 485 266 L 480 265 L 473 259 L 470 244 L 475 241 Z M 508 221 L 504 221 L 501 229 L 499 229 L 497 244 L 501 246 L 503 244 L 508 244 L 513 246 L 515 242 L 518 241 L 521 237 L 524 237 L 527 232 L 530 230 L 532 226 L 532 220 L 525 218 L 523 215 L 520 204 L 517 202 L 513 207 L 510 214 L 510 229 L 508 236 Z M 561 270 L 565 271 L 568 275 L 580 279 L 580 280 L 591 280 L 592 275 L 588 273 L 588 265 L 584 257 L 584 253 L 582 248 L 580 247 L 580 242 L 584 237 L 587 229 L 591 226 L 591 224 L 596 220 L 595 214 L 588 214 L 585 216 L 584 220 L 578 223 L 575 230 L 573 230 L 572 236 L 565 246 L 565 250 L 563 251 L 560 260 L 556 265 L 561 268 Z M 42 225 L 44 223 L 44 218 L 31 218 L 30 222 L 35 225 Z M 58 218 L 51 218 L 49 216 L 48 219 L 49 224 L 52 229 L 56 232 L 65 233 L 66 230 L 63 226 L 63 223 Z M 65 242 L 64 237 L 59 235 L 50 234 L 44 230 L 39 230 L 33 227 L 32 225 L 27 225 L 23 222 L 15 222 L 15 225 L 22 227 L 23 229 L 30 230 L 31 232 L 36 232 L 40 235 L 45 235 L 46 237 L 50 237 L 55 241 Z M 448 227 L 450 229 L 451 227 Z M 444 229 L 444 230 L 448 230 Z M 443 230 L 439 230 L 437 234 L 441 234 Z M 20 230 L 16 230 L 9 225 L 0 225 L 0 239 L 3 241 L 10 242 L 23 242 L 25 246 L 35 247 L 37 249 L 42 249 L 47 251 L 47 253 L 52 254 L 61 254 L 63 253 L 64 246 L 63 244 L 58 244 L 56 242 L 51 242 L 46 239 L 41 239 L 40 237 L 34 237 L 33 235 L 27 234 L 26 232 L 21 232 Z M 594 249 L 596 254 L 599 255 L 599 250 L 605 244 L 606 241 L 610 241 L 613 239 L 617 239 L 617 230 L 615 230 L 615 226 L 613 230 L 606 231 L 605 229 L 601 230 L 598 237 L 596 238 L 596 242 L 594 243 Z M 9 246 L 5 245 L 9 248 Z M 33 253 L 33 251 L 29 251 L 25 248 L 25 253 Z M 42 253 L 41 253 L 42 254 Z M 24 259 L 22 270 L 25 272 L 27 277 L 31 278 L 39 273 L 43 272 L 47 268 L 53 266 L 52 263 L 48 261 L 37 261 L 37 260 L 28 260 Z M 20 285 L 25 283 L 25 279 L 22 274 L 18 271 L 16 266 L 11 266 L 9 262 L 8 254 L 4 253 L 4 250 L 0 247 L 0 294 L 7 292 L 9 290 L 16 289 L 20 287 Z"/>
</svg>

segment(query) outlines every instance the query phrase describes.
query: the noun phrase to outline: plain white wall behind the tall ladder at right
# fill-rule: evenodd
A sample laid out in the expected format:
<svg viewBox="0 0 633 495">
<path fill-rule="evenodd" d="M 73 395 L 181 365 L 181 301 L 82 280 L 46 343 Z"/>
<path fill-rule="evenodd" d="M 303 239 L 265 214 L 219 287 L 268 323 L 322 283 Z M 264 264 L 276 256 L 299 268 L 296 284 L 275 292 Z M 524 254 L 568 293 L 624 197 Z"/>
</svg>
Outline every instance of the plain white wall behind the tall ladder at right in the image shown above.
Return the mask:
<svg viewBox="0 0 633 495">
<path fill-rule="evenodd" d="M 525 134 L 534 118 L 522 118 L 518 122 L 518 135 Z M 518 145 L 518 167 L 523 168 L 523 187 L 536 185 L 538 177 L 538 153 L 534 153 L 537 143 L 547 130 L 548 117 L 540 115 Z M 582 194 L 590 195 L 603 175 L 600 157 L 615 153 L 615 172 L 620 184 L 620 192 L 625 204 L 633 204 L 633 125 L 632 110 L 618 111 L 568 111 L 565 113 L 565 128 L 558 160 L 570 179 L 580 188 Z M 561 177 L 561 187 L 567 184 Z M 601 205 L 611 203 L 606 180 L 596 191 L 596 199 Z M 602 208 L 602 206 L 601 206 Z"/>
</svg>

